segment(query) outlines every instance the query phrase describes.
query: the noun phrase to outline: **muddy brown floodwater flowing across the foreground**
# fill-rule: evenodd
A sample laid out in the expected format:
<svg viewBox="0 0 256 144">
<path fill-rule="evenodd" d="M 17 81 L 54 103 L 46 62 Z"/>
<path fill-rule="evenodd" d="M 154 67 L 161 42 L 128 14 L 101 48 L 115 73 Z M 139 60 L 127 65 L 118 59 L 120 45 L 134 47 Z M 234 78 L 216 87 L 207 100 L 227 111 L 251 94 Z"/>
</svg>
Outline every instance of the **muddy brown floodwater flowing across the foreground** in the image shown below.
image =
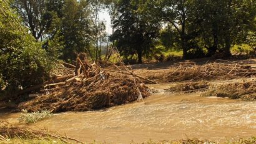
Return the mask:
<svg viewBox="0 0 256 144">
<path fill-rule="evenodd" d="M 144 102 L 93 112 L 59 113 L 28 127 L 47 128 L 84 142 L 107 143 L 182 138 L 222 142 L 256 136 L 256 102 L 164 92 L 153 94 Z M 19 115 L 2 114 L 0 119 L 16 123 Z"/>
</svg>

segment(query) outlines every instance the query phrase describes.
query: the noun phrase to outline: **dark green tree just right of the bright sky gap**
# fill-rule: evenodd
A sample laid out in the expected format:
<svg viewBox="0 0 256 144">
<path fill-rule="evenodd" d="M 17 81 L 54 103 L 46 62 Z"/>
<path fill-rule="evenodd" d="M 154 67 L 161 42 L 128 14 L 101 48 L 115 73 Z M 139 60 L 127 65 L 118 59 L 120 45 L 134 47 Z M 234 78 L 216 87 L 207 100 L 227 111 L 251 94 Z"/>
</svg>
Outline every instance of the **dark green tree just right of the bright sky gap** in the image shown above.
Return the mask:
<svg viewBox="0 0 256 144">
<path fill-rule="evenodd" d="M 119 15 L 113 22 L 112 40 L 116 41 L 117 49 L 125 57 L 137 54 L 139 63 L 142 63 L 142 56 L 154 47 L 154 39 L 159 33 L 159 23 L 150 21 L 143 9 L 144 4 L 138 0 L 119 1 Z"/>
</svg>

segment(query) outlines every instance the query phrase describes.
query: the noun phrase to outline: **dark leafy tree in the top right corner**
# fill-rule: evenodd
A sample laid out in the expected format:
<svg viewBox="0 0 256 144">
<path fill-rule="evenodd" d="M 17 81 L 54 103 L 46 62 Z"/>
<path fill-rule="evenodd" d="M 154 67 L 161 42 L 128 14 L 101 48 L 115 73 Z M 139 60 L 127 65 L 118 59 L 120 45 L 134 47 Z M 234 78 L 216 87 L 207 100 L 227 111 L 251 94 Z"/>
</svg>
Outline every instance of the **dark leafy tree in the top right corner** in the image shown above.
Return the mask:
<svg viewBox="0 0 256 144">
<path fill-rule="evenodd" d="M 193 15 L 200 19 L 200 37 L 208 55 L 217 50 L 230 56 L 230 47 L 246 42 L 255 25 L 255 1 L 194 0 Z"/>
</svg>

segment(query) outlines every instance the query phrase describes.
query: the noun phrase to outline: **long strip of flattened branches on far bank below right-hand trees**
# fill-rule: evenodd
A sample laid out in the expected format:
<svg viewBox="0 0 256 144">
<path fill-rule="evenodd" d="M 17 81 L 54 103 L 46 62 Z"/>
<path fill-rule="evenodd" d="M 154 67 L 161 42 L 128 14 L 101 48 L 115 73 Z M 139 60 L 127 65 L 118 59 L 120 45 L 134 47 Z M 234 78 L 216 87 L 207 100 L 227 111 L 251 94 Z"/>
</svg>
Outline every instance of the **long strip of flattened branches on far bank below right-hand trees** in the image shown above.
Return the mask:
<svg viewBox="0 0 256 144">
<path fill-rule="evenodd" d="M 167 82 L 180 82 L 184 80 L 218 80 L 235 79 L 239 77 L 253 77 L 256 70 L 250 66 L 239 64 L 224 64 L 212 62 L 196 65 L 194 62 L 182 62 L 174 65 L 165 79 Z"/>
</svg>

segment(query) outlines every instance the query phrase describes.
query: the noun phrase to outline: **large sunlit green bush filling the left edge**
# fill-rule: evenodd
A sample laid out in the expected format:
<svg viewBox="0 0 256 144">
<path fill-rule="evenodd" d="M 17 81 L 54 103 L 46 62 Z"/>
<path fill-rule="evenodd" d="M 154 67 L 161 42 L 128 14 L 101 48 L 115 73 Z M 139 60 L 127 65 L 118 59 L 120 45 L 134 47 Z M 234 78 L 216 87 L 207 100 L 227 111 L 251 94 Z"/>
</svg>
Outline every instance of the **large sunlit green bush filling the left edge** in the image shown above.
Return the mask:
<svg viewBox="0 0 256 144">
<path fill-rule="evenodd" d="M 9 4 L 0 1 L 0 6 L 0 92 L 12 95 L 48 79 L 52 60 L 42 43 L 28 34 Z"/>
</svg>

